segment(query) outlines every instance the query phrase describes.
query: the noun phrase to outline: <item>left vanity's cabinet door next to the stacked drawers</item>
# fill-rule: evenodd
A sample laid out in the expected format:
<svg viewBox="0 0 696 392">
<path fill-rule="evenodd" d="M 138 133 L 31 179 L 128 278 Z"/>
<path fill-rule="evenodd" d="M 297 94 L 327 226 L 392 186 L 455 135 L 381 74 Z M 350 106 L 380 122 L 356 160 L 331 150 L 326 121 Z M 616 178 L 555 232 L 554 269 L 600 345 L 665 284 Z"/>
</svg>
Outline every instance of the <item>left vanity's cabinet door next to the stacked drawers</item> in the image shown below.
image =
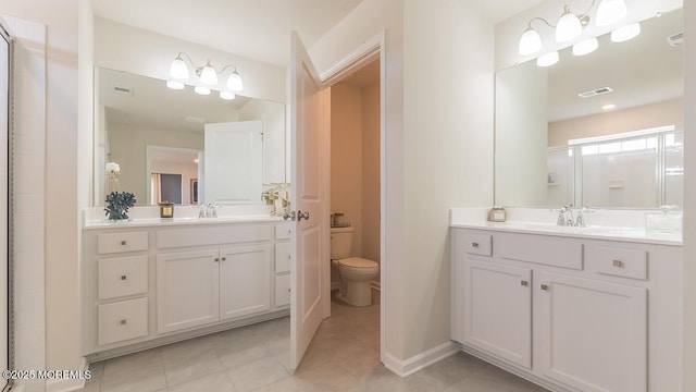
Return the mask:
<svg viewBox="0 0 696 392">
<path fill-rule="evenodd" d="M 219 319 L 217 248 L 157 256 L 159 333 Z"/>
</svg>

